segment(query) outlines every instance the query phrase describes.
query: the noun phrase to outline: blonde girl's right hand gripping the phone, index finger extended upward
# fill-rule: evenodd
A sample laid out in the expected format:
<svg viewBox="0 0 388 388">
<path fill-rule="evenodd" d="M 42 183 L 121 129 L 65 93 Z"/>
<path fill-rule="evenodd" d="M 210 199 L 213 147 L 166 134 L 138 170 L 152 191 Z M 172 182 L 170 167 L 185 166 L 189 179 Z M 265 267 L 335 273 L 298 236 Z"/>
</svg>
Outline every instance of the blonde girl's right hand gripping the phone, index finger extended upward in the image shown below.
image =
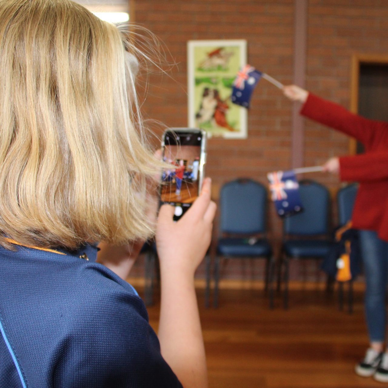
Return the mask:
<svg viewBox="0 0 388 388">
<path fill-rule="evenodd" d="M 161 272 L 193 277 L 211 241 L 216 204 L 210 199 L 211 180 L 204 180 L 200 196 L 178 222 L 174 207 L 163 205 L 156 225 L 156 247 Z"/>
</svg>

